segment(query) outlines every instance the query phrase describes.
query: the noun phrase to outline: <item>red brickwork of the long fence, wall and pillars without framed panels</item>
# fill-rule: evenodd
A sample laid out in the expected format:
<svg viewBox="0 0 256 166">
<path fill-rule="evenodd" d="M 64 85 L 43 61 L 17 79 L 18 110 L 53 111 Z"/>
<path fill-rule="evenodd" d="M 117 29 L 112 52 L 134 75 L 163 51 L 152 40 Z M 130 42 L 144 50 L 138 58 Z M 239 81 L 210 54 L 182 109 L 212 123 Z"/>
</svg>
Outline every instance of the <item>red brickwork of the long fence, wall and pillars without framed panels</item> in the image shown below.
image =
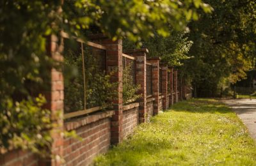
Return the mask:
<svg viewBox="0 0 256 166">
<path fill-rule="evenodd" d="M 178 102 L 179 94 L 180 99 L 186 99 L 186 96 L 189 95 L 186 94 L 188 87 L 182 85 L 180 93 L 177 89 L 179 84 L 177 70 L 173 70 L 167 65 L 159 65 L 161 61 L 159 57 L 147 58 L 147 49 L 123 51 L 122 40 L 111 41 L 102 35 L 96 35 L 92 40 L 106 48 L 108 72 L 117 69 L 117 72 L 111 76 L 112 82 L 118 82 L 115 89 L 116 99 L 111 101 L 114 103 L 113 110 L 95 112 L 84 117 L 67 119 L 67 121 L 56 119 L 55 114 L 58 111 L 61 110 L 61 114 L 63 114 L 64 86 L 62 72 L 52 68 L 47 108 L 52 111 L 52 121 L 60 124 L 58 128 L 54 128 L 54 131 L 75 130 L 80 139 L 64 138 L 61 132 L 52 133 L 53 142 L 49 154 L 58 155 L 65 162 L 61 162 L 60 158 L 59 160 L 38 160 L 32 153 L 15 150 L 0 155 L 0 165 L 90 165 L 95 156 L 108 151 L 111 144 L 121 142 L 134 131 L 139 123 L 150 121 L 150 117 L 158 114 L 159 110 L 168 109 L 173 103 Z M 54 59 L 63 61 L 61 56 L 62 38 L 58 40 L 56 36 L 51 36 L 48 49 Z M 138 91 L 141 98 L 129 105 L 123 105 L 122 99 L 122 56 L 124 52 L 134 57 L 136 61 L 136 84 L 140 84 L 141 87 Z M 147 96 L 146 88 L 146 64 L 152 65 L 152 95 L 149 96 Z M 161 81 L 159 81 L 160 66 L 163 72 Z M 170 82 L 168 83 L 168 81 Z M 161 85 L 159 85 L 160 82 L 162 82 Z M 159 86 L 162 86 L 161 94 L 159 94 Z"/>
</svg>

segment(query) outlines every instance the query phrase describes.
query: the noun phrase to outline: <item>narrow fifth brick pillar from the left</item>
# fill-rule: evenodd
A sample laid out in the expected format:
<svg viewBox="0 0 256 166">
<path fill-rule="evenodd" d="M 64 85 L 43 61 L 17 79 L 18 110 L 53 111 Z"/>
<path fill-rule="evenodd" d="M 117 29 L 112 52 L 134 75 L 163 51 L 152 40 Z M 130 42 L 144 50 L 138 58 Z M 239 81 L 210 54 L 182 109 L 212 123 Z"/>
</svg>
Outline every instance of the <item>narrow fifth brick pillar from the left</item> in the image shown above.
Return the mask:
<svg viewBox="0 0 256 166">
<path fill-rule="evenodd" d="M 163 72 L 163 80 L 162 80 L 162 93 L 163 93 L 163 109 L 168 109 L 167 105 L 167 93 L 168 93 L 168 66 L 163 65 L 162 66 L 162 72 Z"/>
</svg>

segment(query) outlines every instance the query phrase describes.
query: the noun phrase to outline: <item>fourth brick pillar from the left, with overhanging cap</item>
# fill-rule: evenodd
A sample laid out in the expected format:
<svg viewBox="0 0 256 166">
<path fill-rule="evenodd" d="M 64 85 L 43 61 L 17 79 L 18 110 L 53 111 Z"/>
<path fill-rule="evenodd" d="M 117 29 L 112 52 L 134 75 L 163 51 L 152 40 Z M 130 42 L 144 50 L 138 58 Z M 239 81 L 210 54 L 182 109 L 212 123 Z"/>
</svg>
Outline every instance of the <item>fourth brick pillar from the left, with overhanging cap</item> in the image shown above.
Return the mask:
<svg viewBox="0 0 256 166">
<path fill-rule="evenodd" d="M 147 59 L 148 63 L 152 64 L 152 90 L 154 100 L 154 115 L 159 112 L 159 57 L 151 57 Z"/>
</svg>

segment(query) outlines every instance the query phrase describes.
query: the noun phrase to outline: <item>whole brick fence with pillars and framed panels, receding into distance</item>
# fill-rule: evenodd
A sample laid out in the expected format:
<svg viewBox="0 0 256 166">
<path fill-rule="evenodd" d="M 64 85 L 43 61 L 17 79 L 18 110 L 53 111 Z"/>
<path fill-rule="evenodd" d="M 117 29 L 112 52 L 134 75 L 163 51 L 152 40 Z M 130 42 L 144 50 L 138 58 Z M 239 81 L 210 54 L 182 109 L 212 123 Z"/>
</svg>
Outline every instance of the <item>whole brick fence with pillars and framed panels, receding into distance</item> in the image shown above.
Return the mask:
<svg viewBox="0 0 256 166">
<path fill-rule="evenodd" d="M 167 93 L 177 94 L 177 73 L 172 75 L 159 68 L 159 58 L 147 59 L 147 49 L 133 50 L 132 56 L 122 54 L 120 40 L 112 41 L 103 36 L 91 42 L 70 38 L 65 33 L 61 36 L 64 38 L 64 70 L 52 70 L 51 85 L 56 91 L 51 92 L 48 100 L 51 111 L 63 110 L 65 121 L 57 119 L 63 124 L 63 131 L 75 130 L 81 141 L 58 134 L 52 137 L 51 150 L 58 149 L 58 155 L 66 160 L 63 165 L 90 165 L 94 156 L 106 152 L 111 144 L 121 142 L 131 133 L 139 122 L 157 114 L 163 103 L 166 103 L 165 109 L 172 105 L 168 98 L 173 97 Z M 128 74 L 124 77 L 125 71 Z M 140 84 L 141 96 L 138 101 L 124 105 L 123 86 L 130 82 L 128 77 L 133 85 Z M 115 96 L 109 98 L 109 93 Z M 160 96 L 162 93 L 165 95 Z M 109 105 L 113 110 L 100 111 L 108 109 Z"/>
</svg>

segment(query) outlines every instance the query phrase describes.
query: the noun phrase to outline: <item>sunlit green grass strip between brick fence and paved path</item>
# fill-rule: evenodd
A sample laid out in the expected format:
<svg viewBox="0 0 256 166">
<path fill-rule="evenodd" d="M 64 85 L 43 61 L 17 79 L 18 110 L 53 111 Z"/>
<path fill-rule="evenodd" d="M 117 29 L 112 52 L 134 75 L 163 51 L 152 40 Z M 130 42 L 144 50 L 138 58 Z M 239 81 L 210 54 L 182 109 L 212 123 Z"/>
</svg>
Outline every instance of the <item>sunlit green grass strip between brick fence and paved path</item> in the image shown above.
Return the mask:
<svg viewBox="0 0 256 166">
<path fill-rule="evenodd" d="M 94 165 L 256 165 L 256 144 L 217 100 L 192 99 L 140 124 Z"/>
</svg>

